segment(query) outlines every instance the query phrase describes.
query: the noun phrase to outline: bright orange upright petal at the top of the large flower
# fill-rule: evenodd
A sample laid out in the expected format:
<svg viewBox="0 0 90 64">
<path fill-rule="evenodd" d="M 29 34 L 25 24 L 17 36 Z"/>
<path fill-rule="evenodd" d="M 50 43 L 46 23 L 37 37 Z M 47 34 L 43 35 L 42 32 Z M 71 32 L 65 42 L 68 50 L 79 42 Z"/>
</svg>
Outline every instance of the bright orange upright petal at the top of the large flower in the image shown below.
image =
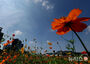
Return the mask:
<svg viewBox="0 0 90 64">
<path fill-rule="evenodd" d="M 80 14 L 82 13 L 82 10 L 80 9 L 73 9 L 71 10 L 71 12 L 69 13 L 67 19 L 71 19 L 71 20 L 75 20 Z"/>
</svg>

